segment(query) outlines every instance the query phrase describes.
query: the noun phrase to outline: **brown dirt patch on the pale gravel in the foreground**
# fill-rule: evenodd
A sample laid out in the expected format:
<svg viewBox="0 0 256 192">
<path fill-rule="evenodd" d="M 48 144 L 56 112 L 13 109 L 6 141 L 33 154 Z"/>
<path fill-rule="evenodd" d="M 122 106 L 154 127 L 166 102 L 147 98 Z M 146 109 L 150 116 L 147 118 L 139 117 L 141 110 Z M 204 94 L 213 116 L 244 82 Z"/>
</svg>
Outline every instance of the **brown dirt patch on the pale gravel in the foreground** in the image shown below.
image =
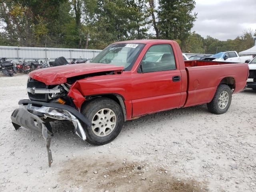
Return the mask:
<svg viewBox="0 0 256 192">
<path fill-rule="evenodd" d="M 206 185 L 172 176 L 170 170 L 144 162 L 108 160 L 106 157 L 74 158 L 64 162 L 58 182 L 70 188 L 105 192 L 204 192 Z"/>
</svg>

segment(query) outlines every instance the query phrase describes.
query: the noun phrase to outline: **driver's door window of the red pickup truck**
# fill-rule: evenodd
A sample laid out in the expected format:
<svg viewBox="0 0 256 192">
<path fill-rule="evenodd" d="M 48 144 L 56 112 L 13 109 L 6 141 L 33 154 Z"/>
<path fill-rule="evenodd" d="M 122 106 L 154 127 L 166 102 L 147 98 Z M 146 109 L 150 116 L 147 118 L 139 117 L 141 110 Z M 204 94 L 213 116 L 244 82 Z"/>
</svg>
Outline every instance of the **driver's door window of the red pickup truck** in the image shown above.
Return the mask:
<svg viewBox="0 0 256 192">
<path fill-rule="evenodd" d="M 144 55 L 138 72 L 175 70 L 176 64 L 169 44 L 153 45 Z"/>
</svg>

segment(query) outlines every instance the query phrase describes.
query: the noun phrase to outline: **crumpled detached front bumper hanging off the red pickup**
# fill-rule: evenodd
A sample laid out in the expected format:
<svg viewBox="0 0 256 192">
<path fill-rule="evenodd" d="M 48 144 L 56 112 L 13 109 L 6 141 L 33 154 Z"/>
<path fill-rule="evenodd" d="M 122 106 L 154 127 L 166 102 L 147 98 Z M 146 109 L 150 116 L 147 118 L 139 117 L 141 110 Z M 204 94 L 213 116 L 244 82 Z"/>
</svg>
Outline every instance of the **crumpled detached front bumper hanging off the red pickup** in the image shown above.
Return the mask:
<svg viewBox="0 0 256 192">
<path fill-rule="evenodd" d="M 11 115 L 11 120 L 14 128 L 25 127 L 30 130 L 42 132 L 46 142 L 48 164 L 52 164 L 52 154 L 50 150 L 50 141 L 52 135 L 52 128 L 48 123 L 51 120 L 69 120 L 73 123 L 75 133 L 86 140 L 86 133 L 82 127 L 82 122 L 87 126 L 91 126 L 89 120 L 83 116 L 78 110 L 56 103 L 45 103 L 31 100 L 20 100 L 18 102 L 20 108 L 14 110 Z"/>
</svg>

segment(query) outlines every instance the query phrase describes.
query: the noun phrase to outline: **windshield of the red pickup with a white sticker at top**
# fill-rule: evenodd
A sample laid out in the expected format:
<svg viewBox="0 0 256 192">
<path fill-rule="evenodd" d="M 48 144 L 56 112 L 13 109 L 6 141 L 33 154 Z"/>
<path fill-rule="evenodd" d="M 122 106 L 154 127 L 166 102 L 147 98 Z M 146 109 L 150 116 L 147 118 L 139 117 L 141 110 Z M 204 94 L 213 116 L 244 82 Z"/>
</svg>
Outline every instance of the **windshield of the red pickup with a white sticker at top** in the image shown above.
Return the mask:
<svg viewBox="0 0 256 192">
<path fill-rule="evenodd" d="M 124 66 L 124 70 L 131 70 L 134 62 L 145 44 L 120 43 L 107 46 L 91 62 Z"/>
</svg>

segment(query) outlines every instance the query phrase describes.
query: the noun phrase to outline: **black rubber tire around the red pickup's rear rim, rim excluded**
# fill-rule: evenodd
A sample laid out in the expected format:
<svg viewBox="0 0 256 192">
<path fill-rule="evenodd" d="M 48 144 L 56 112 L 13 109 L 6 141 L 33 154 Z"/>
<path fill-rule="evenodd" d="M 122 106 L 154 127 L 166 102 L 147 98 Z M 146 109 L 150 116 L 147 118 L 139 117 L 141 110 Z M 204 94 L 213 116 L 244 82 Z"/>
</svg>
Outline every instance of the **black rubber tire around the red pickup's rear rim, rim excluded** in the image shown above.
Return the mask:
<svg viewBox="0 0 256 192">
<path fill-rule="evenodd" d="M 224 91 L 228 93 L 228 103 L 226 104 L 225 108 L 221 109 L 218 105 L 218 100 L 219 100 L 220 94 Z M 232 100 L 232 92 L 230 87 L 226 84 L 220 84 L 217 87 L 216 93 L 214 94 L 212 101 L 207 104 L 208 111 L 214 114 L 226 113 L 228 111 L 228 108 L 230 107 L 231 100 Z"/>
</svg>

